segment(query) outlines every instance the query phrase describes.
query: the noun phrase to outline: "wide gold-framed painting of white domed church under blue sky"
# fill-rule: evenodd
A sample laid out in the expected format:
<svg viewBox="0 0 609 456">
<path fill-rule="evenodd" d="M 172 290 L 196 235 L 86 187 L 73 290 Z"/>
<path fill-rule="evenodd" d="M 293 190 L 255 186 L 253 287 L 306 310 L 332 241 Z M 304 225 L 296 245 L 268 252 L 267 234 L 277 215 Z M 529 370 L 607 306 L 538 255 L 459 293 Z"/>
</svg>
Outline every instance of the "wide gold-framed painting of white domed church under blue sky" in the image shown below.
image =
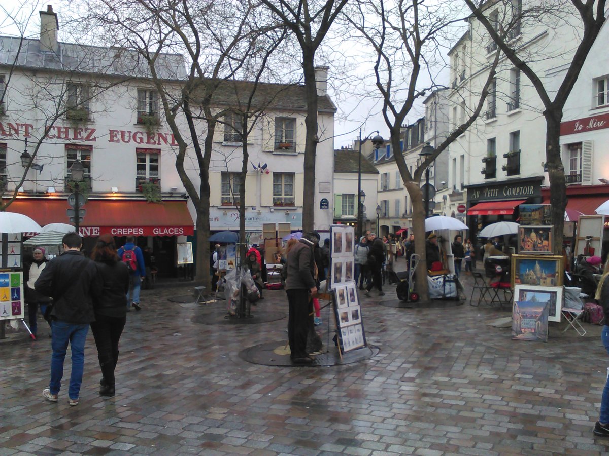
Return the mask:
<svg viewBox="0 0 609 456">
<path fill-rule="evenodd" d="M 512 288 L 515 285 L 563 286 L 562 255 L 512 255 Z"/>
</svg>

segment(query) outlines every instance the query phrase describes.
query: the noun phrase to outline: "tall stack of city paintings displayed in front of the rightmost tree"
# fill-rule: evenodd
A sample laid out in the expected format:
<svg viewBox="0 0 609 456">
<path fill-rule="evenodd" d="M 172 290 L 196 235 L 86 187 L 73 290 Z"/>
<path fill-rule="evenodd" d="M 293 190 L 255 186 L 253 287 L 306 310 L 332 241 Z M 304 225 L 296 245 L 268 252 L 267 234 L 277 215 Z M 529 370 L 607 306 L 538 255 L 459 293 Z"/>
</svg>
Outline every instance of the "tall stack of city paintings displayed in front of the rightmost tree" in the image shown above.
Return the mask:
<svg viewBox="0 0 609 456">
<path fill-rule="evenodd" d="M 518 255 L 512 255 L 512 339 L 547 342 L 548 322 L 560 322 L 563 257 L 554 255 L 549 205 L 521 205 Z"/>
</svg>

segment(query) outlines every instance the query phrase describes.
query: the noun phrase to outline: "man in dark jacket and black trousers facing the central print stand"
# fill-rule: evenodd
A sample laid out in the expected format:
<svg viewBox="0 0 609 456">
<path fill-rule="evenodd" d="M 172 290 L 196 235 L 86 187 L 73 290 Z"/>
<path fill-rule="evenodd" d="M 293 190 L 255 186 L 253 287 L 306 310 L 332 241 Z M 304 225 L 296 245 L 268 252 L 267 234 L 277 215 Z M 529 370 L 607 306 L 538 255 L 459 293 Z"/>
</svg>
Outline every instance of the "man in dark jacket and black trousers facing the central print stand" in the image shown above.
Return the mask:
<svg viewBox="0 0 609 456">
<path fill-rule="evenodd" d="M 318 241 L 319 234 L 306 232 L 287 254 L 286 294 L 289 304 L 287 339 L 290 344 L 290 358 L 295 364 L 313 362 L 306 351 L 306 339 L 309 322 L 312 323 L 312 298 L 317 294 L 313 246 Z"/>
</svg>

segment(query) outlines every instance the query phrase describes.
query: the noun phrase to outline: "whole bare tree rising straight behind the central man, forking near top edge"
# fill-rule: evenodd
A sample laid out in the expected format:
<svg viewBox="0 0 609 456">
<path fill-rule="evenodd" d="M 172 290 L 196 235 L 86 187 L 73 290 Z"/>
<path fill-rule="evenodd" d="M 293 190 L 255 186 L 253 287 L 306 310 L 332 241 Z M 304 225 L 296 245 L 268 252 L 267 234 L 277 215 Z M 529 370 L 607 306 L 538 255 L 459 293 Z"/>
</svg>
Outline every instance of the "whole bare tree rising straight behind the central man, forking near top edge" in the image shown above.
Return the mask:
<svg viewBox="0 0 609 456">
<path fill-rule="evenodd" d="M 315 54 L 348 0 L 261 0 L 262 4 L 289 29 L 298 41 L 305 75 L 307 114 L 305 142 L 305 182 L 303 189 L 303 230 L 314 227 L 315 152 L 317 131 L 317 86 Z"/>
</svg>

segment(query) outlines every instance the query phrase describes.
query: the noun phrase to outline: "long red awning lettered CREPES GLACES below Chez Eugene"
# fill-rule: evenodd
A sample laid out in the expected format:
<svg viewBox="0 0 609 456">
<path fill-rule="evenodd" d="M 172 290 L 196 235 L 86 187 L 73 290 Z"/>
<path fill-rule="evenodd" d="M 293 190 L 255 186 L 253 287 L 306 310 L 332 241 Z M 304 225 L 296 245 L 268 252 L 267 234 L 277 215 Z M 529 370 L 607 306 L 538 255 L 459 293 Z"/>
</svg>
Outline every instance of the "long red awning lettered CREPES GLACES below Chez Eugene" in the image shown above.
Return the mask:
<svg viewBox="0 0 609 456">
<path fill-rule="evenodd" d="M 7 207 L 33 218 L 40 226 L 68 223 L 66 199 L 16 199 Z M 192 235 L 194 223 L 186 201 L 164 201 L 161 204 L 124 199 L 91 199 L 82 209 L 86 215 L 80 223 L 83 236 L 177 236 Z"/>
</svg>

